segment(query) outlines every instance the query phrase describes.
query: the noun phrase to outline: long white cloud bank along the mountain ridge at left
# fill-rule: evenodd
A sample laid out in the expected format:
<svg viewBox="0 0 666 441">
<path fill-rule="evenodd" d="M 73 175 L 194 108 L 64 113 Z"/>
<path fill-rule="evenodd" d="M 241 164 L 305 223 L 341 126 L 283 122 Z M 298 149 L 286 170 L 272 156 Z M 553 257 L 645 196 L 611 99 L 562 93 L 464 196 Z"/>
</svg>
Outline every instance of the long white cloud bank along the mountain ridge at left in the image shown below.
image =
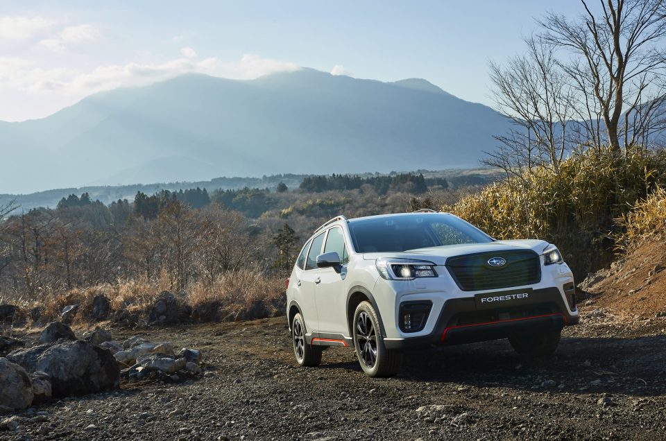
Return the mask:
<svg viewBox="0 0 666 441">
<path fill-rule="evenodd" d="M 158 64 L 110 64 L 92 71 L 56 68 L 44 69 L 30 60 L 0 58 L 0 87 L 19 89 L 31 94 L 58 93 L 83 98 L 95 92 L 126 86 L 142 86 L 196 72 L 250 80 L 280 71 L 296 71 L 297 64 L 282 62 L 259 55 L 244 55 L 240 60 L 224 61 L 219 58 L 192 60 L 178 58 Z"/>
</svg>

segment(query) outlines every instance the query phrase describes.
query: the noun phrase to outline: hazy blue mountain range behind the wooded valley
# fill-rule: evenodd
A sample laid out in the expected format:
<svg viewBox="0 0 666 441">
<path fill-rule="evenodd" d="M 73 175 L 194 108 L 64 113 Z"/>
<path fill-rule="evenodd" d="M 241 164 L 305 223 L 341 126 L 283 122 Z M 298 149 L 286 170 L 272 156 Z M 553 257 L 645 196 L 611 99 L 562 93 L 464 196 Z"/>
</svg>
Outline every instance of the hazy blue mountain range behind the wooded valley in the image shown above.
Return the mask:
<svg viewBox="0 0 666 441">
<path fill-rule="evenodd" d="M 0 193 L 277 173 L 470 167 L 508 122 L 426 80 L 187 74 L 0 123 Z"/>
</svg>

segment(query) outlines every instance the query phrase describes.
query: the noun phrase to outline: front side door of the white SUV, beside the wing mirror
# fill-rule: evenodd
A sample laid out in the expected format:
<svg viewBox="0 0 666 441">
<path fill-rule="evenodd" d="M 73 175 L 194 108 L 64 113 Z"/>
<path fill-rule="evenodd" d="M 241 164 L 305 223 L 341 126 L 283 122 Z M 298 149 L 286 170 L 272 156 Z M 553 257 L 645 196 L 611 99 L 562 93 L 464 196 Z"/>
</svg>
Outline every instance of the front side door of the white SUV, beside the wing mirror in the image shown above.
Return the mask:
<svg viewBox="0 0 666 441">
<path fill-rule="evenodd" d="M 347 246 L 341 227 L 328 230 L 324 252 L 335 251 L 341 259 L 341 268 L 321 268 L 318 271 L 319 283 L 314 288 L 317 311 L 319 313 L 319 329 L 324 334 L 347 336 Z"/>
</svg>

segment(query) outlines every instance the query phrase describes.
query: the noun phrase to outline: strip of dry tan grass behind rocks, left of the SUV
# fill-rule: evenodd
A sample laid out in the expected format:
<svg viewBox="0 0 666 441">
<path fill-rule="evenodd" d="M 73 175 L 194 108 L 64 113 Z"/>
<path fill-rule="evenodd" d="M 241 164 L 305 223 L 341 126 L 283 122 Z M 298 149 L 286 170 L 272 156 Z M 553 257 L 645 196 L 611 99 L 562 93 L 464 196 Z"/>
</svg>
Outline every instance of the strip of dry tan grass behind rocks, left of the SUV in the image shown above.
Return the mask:
<svg viewBox="0 0 666 441">
<path fill-rule="evenodd" d="M 31 322 L 30 311 L 41 308 L 40 322 L 58 320 L 65 306 L 78 304 L 74 318 L 77 325 L 91 321 L 94 297 L 105 295 L 110 301 L 111 315 L 126 312 L 138 322 L 146 322 L 155 298 L 162 291 L 176 295 L 178 304 L 197 321 L 222 321 L 264 318 L 284 313 L 284 279 L 266 275 L 258 267 L 230 271 L 213 282 L 194 282 L 181 292 L 172 291 L 173 277 L 162 274 L 155 280 L 118 280 L 113 284 L 74 288 L 70 291 L 45 293 L 41 298 L 0 298 L 0 304 L 20 306 L 17 321 Z"/>
</svg>

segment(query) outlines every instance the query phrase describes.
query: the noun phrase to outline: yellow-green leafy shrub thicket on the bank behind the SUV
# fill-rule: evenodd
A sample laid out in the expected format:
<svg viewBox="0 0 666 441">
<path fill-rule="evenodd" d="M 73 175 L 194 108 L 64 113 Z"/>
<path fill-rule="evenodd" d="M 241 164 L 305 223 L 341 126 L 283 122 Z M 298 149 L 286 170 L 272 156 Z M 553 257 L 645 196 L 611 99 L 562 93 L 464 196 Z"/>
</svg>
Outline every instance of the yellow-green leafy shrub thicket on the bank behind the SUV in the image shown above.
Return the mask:
<svg viewBox="0 0 666 441">
<path fill-rule="evenodd" d="M 566 159 L 558 173 L 533 168 L 443 208 L 496 239 L 555 243 L 582 278 L 613 258 L 615 219 L 665 182 L 664 151 L 588 151 Z"/>
</svg>

